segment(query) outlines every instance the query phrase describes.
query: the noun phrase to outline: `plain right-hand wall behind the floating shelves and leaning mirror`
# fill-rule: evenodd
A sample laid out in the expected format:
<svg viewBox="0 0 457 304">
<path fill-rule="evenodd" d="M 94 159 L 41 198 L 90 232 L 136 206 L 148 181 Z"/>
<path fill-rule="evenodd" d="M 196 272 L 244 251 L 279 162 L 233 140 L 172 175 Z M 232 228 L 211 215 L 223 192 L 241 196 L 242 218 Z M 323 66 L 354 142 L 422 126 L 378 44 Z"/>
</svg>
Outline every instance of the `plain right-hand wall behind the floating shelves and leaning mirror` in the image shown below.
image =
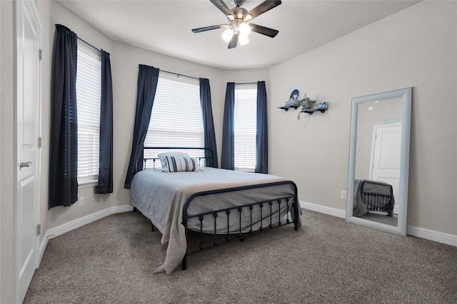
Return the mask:
<svg viewBox="0 0 457 304">
<path fill-rule="evenodd" d="M 271 68 L 271 173 L 344 212 L 351 98 L 413 87 L 408 225 L 457 236 L 457 3 L 423 1 Z M 296 120 L 288 88 L 328 101 Z"/>
</svg>

